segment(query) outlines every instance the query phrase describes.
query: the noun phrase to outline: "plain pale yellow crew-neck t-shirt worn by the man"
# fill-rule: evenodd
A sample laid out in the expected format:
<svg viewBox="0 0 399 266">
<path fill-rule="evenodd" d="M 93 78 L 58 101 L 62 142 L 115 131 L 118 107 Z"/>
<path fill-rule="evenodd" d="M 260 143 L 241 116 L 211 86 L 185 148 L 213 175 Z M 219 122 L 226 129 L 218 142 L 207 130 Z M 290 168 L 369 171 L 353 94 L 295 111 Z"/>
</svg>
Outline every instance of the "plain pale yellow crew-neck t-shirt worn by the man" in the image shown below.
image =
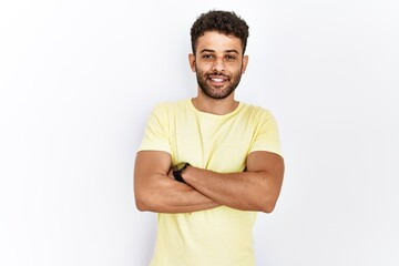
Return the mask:
<svg viewBox="0 0 399 266">
<path fill-rule="evenodd" d="M 225 115 L 200 112 L 191 100 L 157 104 L 140 151 L 164 151 L 172 163 L 218 173 L 243 172 L 250 152 L 280 154 L 277 124 L 265 109 L 239 103 Z M 253 266 L 256 212 L 226 206 L 158 214 L 151 266 Z"/>
</svg>

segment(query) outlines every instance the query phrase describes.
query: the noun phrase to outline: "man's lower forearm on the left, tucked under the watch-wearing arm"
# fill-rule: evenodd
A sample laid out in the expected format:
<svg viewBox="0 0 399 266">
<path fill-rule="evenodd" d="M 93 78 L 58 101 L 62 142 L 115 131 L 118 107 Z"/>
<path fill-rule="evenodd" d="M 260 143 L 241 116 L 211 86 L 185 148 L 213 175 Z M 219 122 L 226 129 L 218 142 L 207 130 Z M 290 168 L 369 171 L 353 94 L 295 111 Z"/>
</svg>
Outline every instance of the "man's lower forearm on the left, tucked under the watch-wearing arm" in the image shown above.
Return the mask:
<svg viewBox="0 0 399 266">
<path fill-rule="evenodd" d="M 166 175 L 146 176 L 147 182 L 135 190 L 136 206 L 140 211 L 155 213 L 192 213 L 219 206 L 187 184 L 176 182 Z"/>
</svg>

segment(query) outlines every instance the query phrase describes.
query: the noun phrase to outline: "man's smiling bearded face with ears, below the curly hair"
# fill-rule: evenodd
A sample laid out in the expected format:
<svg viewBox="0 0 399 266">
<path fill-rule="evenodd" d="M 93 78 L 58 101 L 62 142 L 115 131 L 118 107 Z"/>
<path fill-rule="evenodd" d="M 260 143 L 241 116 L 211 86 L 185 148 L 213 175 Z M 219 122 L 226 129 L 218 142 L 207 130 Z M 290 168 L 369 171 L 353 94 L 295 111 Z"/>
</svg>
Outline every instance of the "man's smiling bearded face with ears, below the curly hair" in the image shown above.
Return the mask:
<svg viewBox="0 0 399 266">
<path fill-rule="evenodd" d="M 195 55 L 190 54 L 191 68 L 196 72 L 198 86 L 212 99 L 232 95 L 247 62 L 241 40 L 216 31 L 205 32 L 200 37 Z"/>
</svg>

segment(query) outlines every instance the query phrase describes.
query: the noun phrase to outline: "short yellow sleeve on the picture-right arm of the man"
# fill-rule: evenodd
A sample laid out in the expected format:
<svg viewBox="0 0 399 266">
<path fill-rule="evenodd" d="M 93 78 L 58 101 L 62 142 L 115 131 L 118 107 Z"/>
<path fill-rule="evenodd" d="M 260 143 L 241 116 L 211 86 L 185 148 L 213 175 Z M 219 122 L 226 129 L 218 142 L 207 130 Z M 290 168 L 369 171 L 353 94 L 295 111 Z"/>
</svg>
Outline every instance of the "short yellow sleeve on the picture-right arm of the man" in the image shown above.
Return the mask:
<svg viewBox="0 0 399 266">
<path fill-rule="evenodd" d="M 258 120 L 258 126 L 255 131 L 249 153 L 255 151 L 266 151 L 283 156 L 278 125 L 274 115 L 267 110 L 262 110 L 255 117 Z"/>
</svg>

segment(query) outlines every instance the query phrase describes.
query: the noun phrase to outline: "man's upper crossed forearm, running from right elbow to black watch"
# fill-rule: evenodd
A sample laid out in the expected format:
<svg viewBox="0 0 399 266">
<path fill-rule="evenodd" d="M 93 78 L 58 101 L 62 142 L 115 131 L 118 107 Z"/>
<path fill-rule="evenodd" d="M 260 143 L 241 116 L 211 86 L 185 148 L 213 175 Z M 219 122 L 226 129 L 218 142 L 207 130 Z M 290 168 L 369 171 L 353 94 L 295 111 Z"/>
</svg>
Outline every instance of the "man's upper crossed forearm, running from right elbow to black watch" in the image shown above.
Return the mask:
<svg viewBox="0 0 399 266">
<path fill-rule="evenodd" d="M 188 167 L 184 180 L 207 197 L 242 211 L 273 211 L 279 186 L 267 172 L 216 173 Z"/>
</svg>

